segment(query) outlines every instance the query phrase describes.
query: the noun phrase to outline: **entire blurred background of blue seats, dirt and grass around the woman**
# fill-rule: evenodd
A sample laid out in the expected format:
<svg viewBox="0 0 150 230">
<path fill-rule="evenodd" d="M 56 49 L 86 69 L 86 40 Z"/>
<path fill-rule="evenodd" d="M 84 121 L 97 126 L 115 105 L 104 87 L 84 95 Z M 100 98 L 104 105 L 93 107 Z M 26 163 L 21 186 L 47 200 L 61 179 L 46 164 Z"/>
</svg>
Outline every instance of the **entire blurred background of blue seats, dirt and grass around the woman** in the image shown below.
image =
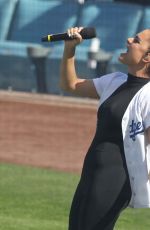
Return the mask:
<svg viewBox="0 0 150 230">
<path fill-rule="evenodd" d="M 150 0 L 0 0 L 0 230 L 68 229 L 98 101 L 60 89 L 64 42 L 41 38 L 74 26 L 97 33 L 77 47 L 79 76 L 127 72 L 118 56 L 150 28 Z M 149 230 L 149 209 L 123 212 L 127 229 Z"/>
</svg>

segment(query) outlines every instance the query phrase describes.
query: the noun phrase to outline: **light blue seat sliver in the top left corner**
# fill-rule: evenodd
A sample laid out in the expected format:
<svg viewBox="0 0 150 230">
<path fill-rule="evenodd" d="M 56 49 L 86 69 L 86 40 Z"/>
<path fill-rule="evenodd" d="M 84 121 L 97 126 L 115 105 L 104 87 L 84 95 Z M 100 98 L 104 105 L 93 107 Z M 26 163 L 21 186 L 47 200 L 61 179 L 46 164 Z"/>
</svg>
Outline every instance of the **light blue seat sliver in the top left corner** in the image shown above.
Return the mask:
<svg viewBox="0 0 150 230">
<path fill-rule="evenodd" d="M 18 0 L 0 1 L 0 40 L 7 39 Z"/>
</svg>

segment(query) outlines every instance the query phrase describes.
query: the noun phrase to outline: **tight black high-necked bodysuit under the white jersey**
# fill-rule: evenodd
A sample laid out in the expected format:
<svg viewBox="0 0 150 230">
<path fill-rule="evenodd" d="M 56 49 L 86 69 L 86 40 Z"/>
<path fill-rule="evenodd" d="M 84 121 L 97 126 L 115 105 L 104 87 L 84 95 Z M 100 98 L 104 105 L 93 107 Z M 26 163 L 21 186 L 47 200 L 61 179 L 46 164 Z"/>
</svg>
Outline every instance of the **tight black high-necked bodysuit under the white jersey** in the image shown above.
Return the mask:
<svg viewBox="0 0 150 230">
<path fill-rule="evenodd" d="M 149 79 L 128 79 L 99 107 L 97 129 L 85 157 L 70 211 L 69 230 L 112 230 L 131 199 L 125 161 L 122 117 Z"/>
</svg>

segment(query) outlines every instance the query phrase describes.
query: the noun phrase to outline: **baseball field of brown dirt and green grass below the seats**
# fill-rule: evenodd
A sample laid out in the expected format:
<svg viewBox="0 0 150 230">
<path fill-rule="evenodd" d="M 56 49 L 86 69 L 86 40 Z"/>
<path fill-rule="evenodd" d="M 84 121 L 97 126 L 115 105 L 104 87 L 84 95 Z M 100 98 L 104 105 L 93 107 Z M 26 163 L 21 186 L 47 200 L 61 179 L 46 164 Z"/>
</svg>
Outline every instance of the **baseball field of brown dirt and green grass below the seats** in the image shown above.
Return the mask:
<svg viewBox="0 0 150 230">
<path fill-rule="evenodd" d="M 67 230 L 98 102 L 0 91 L 0 229 Z M 149 230 L 127 209 L 115 230 Z"/>
</svg>

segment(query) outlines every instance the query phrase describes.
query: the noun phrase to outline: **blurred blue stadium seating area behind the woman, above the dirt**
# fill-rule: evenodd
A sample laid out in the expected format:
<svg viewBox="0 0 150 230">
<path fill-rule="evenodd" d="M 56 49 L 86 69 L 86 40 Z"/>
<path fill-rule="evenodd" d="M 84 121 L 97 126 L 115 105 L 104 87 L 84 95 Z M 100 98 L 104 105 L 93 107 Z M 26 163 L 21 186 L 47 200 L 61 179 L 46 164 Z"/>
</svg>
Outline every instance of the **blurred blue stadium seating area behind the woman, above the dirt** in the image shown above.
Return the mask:
<svg viewBox="0 0 150 230">
<path fill-rule="evenodd" d="M 97 32 L 77 48 L 81 76 L 126 72 L 118 55 L 128 37 L 149 25 L 149 0 L 0 0 L 0 88 L 65 95 L 58 84 L 64 42 L 41 38 L 74 26 Z"/>
</svg>

